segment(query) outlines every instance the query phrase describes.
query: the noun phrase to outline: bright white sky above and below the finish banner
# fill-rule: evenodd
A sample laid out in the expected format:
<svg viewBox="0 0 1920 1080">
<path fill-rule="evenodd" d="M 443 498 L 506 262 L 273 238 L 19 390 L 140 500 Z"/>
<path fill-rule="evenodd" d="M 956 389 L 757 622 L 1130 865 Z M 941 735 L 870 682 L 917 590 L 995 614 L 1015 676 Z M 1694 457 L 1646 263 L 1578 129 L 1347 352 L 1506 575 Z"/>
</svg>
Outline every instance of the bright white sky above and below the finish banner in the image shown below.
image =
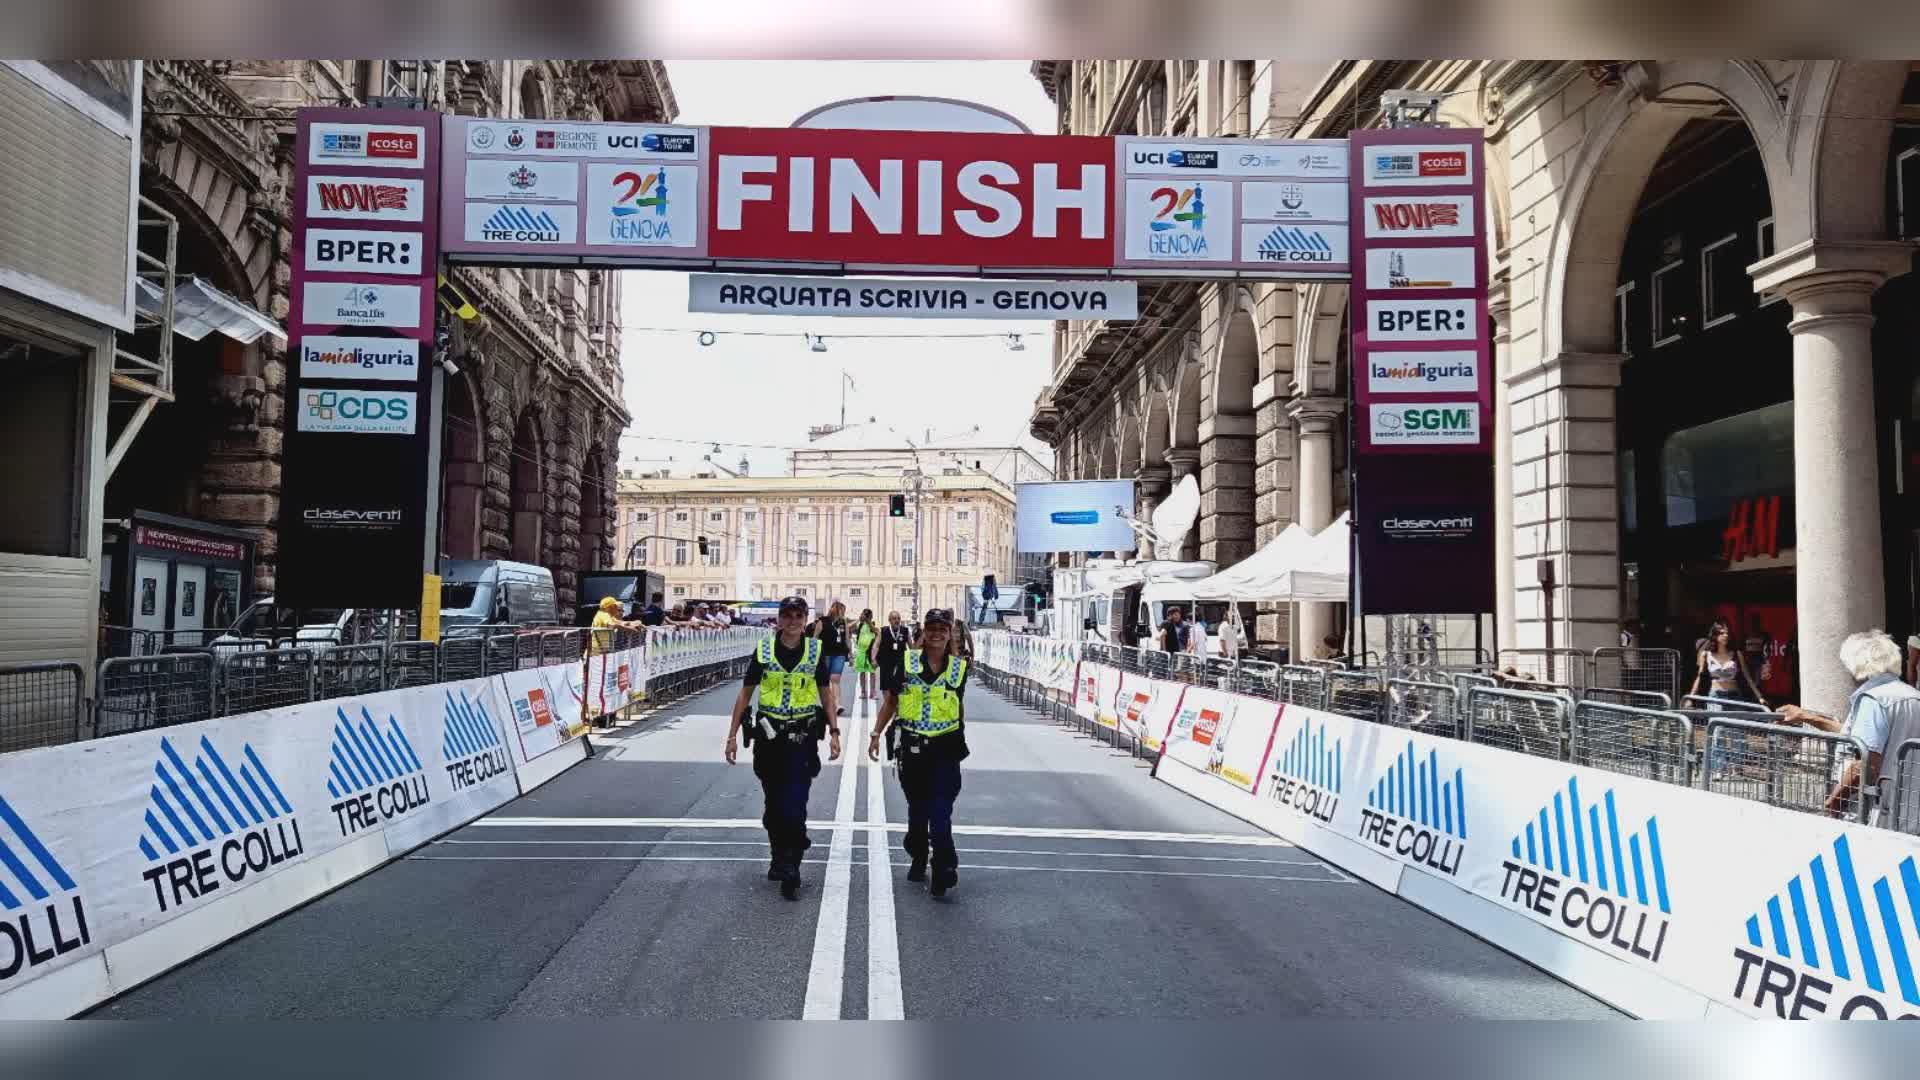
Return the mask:
<svg viewBox="0 0 1920 1080">
<path fill-rule="evenodd" d="M 816 106 L 872 94 L 972 100 L 1037 133 L 1056 123 L 1027 61 L 670 61 L 666 73 L 685 125 L 787 127 Z M 712 440 L 730 469 L 745 454 L 756 475 L 783 475 L 785 450 L 743 444 L 806 446 L 808 427 L 839 423 L 841 369 L 854 382 L 847 423 L 877 417 L 900 430 L 933 429 L 937 438 L 979 425 L 985 442 L 1025 446 L 1052 465 L 1052 452 L 1027 434 L 1033 400 L 1048 380 L 1052 323 L 689 315 L 684 273 L 622 277 L 620 361 L 634 413 L 620 442 L 624 467 L 685 475 L 712 450 L 693 440 Z M 699 331 L 718 338 L 703 348 Z M 822 334 L 828 352 L 810 352 L 806 332 Z M 835 332 L 1023 332 L 1027 348 L 1012 352 L 995 338 L 835 340 Z"/>
</svg>

